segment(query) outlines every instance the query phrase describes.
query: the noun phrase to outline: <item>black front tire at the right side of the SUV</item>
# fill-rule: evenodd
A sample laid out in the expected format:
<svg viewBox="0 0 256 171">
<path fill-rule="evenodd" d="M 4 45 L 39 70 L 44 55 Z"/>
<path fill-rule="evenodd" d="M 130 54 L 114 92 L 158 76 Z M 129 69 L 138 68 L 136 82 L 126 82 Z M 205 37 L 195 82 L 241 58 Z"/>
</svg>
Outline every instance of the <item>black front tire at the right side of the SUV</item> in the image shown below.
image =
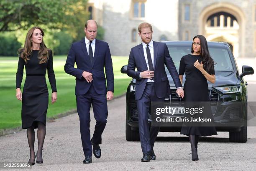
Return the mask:
<svg viewBox="0 0 256 171">
<path fill-rule="evenodd" d="M 247 141 L 247 125 L 241 128 L 239 132 L 229 132 L 230 142 L 243 142 Z"/>
</svg>

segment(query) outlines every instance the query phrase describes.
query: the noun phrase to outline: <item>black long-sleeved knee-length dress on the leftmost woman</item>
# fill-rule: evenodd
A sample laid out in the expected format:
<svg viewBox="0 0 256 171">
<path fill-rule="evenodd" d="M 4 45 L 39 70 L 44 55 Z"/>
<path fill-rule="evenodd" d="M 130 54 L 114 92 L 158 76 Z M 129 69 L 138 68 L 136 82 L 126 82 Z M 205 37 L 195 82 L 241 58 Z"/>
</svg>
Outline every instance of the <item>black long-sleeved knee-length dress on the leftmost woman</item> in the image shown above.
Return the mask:
<svg viewBox="0 0 256 171">
<path fill-rule="evenodd" d="M 46 69 L 52 92 L 57 92 L 53 69 L 52 52 L 49 50 L 49 59 L 44 64 L 39 64 L 39 50 L 33 50 L 30 60 L 26 63 L 21 57 L 18 61 L 16 73 L 16 89 L 20 88 L 23 78 L 23 68 L 26 69 L 26 80 L 22 92 L 21 121 L 22 128 L 37 128 L 36 122 L 46 125 L 49 94 L 46 85 Z"/>
</svg>

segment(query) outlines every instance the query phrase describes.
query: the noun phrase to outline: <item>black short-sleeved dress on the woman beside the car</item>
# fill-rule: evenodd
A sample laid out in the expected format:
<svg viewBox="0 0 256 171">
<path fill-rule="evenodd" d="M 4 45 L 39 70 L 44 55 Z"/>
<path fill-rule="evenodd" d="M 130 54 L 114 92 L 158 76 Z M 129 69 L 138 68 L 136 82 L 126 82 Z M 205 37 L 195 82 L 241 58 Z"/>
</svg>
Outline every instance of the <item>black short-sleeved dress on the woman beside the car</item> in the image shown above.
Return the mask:
<svg viewBox="0 0 256 171">
<path fill-rule="evenodd" d="M 179 75 L 184 75 L 186 72 L 186 81 L 184 83 L 184 101 L 188 103 L 187 105 L 191 105 L 192 103 L 190 102 L 195 102 L 195 104 L 202 102 L 205 109 L 203 110 L 204 112 L 199 115 L 199 117 L 210 118 L 212 122 L 208 122 L 205 124 L 206 126 L 200 124 L 200 126 L 189 126 L 189 123 L 184 122 L 180 134 L 187 136 L 189 136 L 189 134 L 198 136 L 217 135 L 210 104 L 207 103 L 207 105 L 205 105 L 204 103 L 210 101 L 207 79 L 202 72 L 200 72 L 199 69 L 194 66 L 194 63 L 197 60 L 200 63 L 202 61 L 201 56 L 191 54 L 183 56 L 180 60 Z M 215 74 L 214 67 L 208 73 Z M 185 114 L 185 116 L 186 115 L 190 117 L 192 116 L 189 113 Z"/>
</svg>

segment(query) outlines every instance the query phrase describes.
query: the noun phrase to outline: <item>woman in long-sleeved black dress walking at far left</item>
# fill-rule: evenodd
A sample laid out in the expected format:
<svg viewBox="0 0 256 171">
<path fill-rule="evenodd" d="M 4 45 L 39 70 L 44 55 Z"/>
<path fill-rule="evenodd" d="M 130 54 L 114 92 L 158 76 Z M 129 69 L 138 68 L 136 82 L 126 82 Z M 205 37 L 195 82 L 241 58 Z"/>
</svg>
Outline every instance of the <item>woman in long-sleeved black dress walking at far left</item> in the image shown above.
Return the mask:
<svg viewBox="0 0 256 171">
<path fill-rule="evenodd" d="M 16 73 L 16 97 L 22 101 L 22 128 L 27 129 L 28 145 L 30 148 L 29 164 L 42 164 L 42 150 L 46 134 L 46 112 L 48 109 L 48 88 L 46 85 L 46 69 L 51 84 L 51 103 L 56 102 L 57 89 L 53 69 L 52 51 L 43 41 L 44 31 L 40 27 L 28 30 L 24 47 L 18 50 L 19 60 Z M 23 69 L 26 69 L 26 80 L 23 92 L 20 85 Z M 35 131 L 37 130 L 38 150 L 34 152 Z"/>
</svg>

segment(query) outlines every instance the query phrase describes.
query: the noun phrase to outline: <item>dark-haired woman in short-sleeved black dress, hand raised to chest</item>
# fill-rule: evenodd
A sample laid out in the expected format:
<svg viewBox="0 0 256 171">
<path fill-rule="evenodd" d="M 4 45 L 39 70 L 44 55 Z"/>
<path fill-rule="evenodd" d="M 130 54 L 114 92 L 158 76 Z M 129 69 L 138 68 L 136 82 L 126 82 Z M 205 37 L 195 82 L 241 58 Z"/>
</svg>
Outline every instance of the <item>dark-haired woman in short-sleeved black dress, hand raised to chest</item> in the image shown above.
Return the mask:
<svg viewBox="0 0 256 171">
<path fill-rule="evenodd" d="M 184 83 L 184 101 L 188 106 L 204 105 L 204 112 L 200 115 L 187 113 L 186 116 L 203 117 L 211 119 L 211 122 L 203 126 L 202 123 L 183 124 L 180 134 L 189 136 L 191 145 L 192 161 L 197 161 L 197 144 L 200 136 L 217 135 L 211 107 L 209 104 L 208 83 L 215 82 L 214 61 L 210 56 L 208 45 L 203 35 L 197 35 L 193 38 L 191 53 L 182 57 L 179 64 L 179 79 L 182 82 L 183 75 L 186 72 L 186 81 Z M 190 120 L 189 118 L 189 120 Z"/>
</svg>

